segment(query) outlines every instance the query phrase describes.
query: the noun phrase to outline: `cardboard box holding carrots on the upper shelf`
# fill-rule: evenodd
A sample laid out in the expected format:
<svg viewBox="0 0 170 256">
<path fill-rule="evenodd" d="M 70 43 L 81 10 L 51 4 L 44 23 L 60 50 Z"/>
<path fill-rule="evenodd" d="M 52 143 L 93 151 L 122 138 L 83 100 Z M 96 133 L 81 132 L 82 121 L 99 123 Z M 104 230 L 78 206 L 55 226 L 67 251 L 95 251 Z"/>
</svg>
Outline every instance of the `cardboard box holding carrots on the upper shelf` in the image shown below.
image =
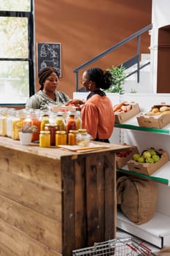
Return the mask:
<svg viewBox="0 0 170 256">
<path fill-rule="evenodd" d="M 133 116 L 136 116 L 140 113 L 139 104 L 135 102 L 130 102 L 131 110 L 127 112 L 115 112 L 115 123 L 122 124 Z"/>
</svg>

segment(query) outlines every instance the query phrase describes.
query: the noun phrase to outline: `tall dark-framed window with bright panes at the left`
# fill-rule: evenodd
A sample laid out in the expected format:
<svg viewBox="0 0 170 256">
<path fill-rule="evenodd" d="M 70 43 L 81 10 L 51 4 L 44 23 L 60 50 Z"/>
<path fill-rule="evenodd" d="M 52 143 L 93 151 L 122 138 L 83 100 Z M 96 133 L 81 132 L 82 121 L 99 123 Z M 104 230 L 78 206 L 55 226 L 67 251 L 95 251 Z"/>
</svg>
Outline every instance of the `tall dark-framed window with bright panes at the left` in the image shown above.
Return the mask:
<svg viewBox="0 0 170 256">
<path fill-rule="evenodd" d="M 24 105 L 34 94 L 33 0 L 0 2 L 0 105 Z"/>
</svg>

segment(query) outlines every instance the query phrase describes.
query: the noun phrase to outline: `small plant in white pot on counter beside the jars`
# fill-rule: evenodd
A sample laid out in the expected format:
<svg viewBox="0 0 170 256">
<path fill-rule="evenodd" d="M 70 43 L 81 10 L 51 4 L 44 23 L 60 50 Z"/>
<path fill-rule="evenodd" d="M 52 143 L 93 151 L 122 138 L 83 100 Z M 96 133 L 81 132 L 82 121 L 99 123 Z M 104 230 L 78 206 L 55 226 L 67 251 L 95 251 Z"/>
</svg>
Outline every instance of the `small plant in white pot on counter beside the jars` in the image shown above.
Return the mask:
<svg viewBox="0 0 170 256">
<path fill-rule="evenodd" d="M 20 143 L 23 145 L 29 145 L 31 143 L 32 134 L 37 132 L 37 127 L 31 123 L 23 124 L 19 132 Z"/>
</svg>

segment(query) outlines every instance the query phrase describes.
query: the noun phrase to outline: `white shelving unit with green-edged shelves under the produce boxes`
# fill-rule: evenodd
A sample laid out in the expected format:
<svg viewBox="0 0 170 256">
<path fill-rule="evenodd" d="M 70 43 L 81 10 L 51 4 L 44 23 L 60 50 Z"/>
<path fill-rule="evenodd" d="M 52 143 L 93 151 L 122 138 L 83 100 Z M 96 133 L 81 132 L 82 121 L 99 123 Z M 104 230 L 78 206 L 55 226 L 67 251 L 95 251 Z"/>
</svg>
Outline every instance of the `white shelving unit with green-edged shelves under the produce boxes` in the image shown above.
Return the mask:
<svg viewBox="0 0 170 256">
<path fill-rule="evenodd" d="M 157 99 L 157 97 L 160 98 L 160 100 Z M 149 102 L 150 106 L 161 102 L 161 96 L 157 97 L 154 96 L 153 99 L 151 99 L 151 102 Z M 155 99 L 157 99 L 158 102 L 152 102 Z M 162 101 L 168 102 L 167 99 Z M 126 100 L 129 101 L 128 98 Z M 143 95 L 142 99 L 141 97 L 134 99 L 134 101 L 139 102 L 139 104 L 142 103 L 143 100 Z M 144 110 L 149 110 L 149 107 L 146 106 L 142 112 L 144 112 Z M 139 127 L 137 118 L 134 116 L 123 124 L 115 124 L 115 128 L 116 130 L 120 130 L 120 143 L 137 146 L 139 152 L 149 147 L 163 148 L 163 150 L 168 151 L 170 156 L 170 124 L 163 127 L 163 129 Z M 143 225 L 135 225 L 133 222 L 129 221 L 121 211 L 117 211 L 117 227 L 160 248 L 170 246 L 170 161 L 155 173 L 152 173 L 152 176 L 128 170 L 128 165 L 117 169 L 117 171 L 125 175 L 149 178 L 158 184 L 158 203 L 154 217 Z"/>
</svg>

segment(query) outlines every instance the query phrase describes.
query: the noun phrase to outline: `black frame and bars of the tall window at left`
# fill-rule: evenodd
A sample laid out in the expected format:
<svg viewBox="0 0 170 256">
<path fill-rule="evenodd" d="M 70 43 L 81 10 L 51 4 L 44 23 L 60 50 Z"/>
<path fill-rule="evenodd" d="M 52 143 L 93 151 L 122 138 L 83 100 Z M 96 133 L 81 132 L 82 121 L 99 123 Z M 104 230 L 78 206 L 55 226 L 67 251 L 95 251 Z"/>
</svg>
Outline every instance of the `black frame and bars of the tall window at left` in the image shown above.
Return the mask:
<svg viewBox="0 0 170 256">
<path fill-rule="evenodd" d="M 28 18 L 28 58 L 0 58 L 0 61 L 28 61 L 29 97 L 35 94 L 35 65 L 34 65 L 34 0 L 30 0 L 30 12 L 24 11 L 2 11 L 0 17 Z M 21 104 L 0 104 L 0 106 L 22 106 Z"/>
</svg>

